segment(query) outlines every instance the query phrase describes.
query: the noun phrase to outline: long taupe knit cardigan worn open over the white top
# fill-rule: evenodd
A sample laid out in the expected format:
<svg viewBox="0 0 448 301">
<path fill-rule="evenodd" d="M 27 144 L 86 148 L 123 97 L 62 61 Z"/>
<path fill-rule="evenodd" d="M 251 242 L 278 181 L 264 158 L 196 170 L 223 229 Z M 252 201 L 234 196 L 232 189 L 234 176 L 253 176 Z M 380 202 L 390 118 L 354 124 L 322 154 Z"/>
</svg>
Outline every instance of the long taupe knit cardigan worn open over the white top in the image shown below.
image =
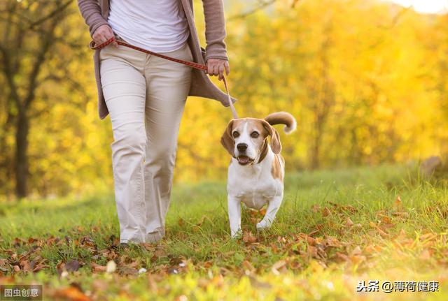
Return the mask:
<svg viewBox="0 0 448 301">
<path fill-rule="evenodd" d="M 202 0 L 204 5 L 204 17 L 205 17 L 205 39 L 207 47 L 200 47 L 199 38 L 197 36 L 197 30 L 195 27 L 193 17 L 193 0 L 180 0 L 183 10 L 188 21 L 188 27 L 190 29 L 190 37 L 188 38 L 188 45 L 190 45 L 191 52 L 193 54 L 193 60 L 199 64 L 205 64 L 207 59 L 228 59 L 227 52 L 225 50 L 225 21 L 224 21 L 224 8 L 222 0 Z M 107 19 L 109 16 L 109 0 L 78 0 L 78 7 L 81 15 L 85 20 L 85 23 L 89 26 L 90 36 L 97 30 L 98 27 L 108 24 Z M 95 50 L 94 70 L 95 78 L 97 80 L 98 89 L 98 112 L 99 118 L 104 119 L 108 114 L 106 102 L 104 101 L 101 76 L 99 73 L 99 51 Z M 213 82 L 209 79 L 208 75 L 203 71 L 193 69 L 191 78 L 189 96 L 201 96 L 206 98 L 215 99 L 221 101 L 225 106 L 228 106 L 227 94 L 223 93 Z M 232 101 L 236 101 L 232 98 Z"/>
</svg>

